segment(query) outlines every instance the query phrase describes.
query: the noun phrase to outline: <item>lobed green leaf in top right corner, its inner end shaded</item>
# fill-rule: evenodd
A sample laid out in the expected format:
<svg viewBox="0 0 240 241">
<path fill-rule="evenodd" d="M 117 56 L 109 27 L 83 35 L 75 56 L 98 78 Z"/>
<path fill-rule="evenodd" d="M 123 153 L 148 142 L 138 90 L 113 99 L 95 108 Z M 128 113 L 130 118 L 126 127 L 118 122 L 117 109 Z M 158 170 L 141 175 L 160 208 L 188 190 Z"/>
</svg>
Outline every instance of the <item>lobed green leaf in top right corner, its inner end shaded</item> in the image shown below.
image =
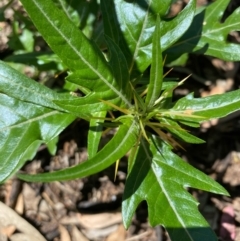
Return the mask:
<svg viewBox="0 0 240 241">
<path fill-rule="evenodd" d="M 217 0 L 200 9 L 192 25 L 182 38 L 166 54 L 180 56 L 184 53 L 203 53 L 226 61 L 238 61 L 240 45 L 230 43 L 228 35 L 240 30 L 240 8 L 237 8 L 222 22 L 222 17 L 230 0 Z"/>
</svg>

